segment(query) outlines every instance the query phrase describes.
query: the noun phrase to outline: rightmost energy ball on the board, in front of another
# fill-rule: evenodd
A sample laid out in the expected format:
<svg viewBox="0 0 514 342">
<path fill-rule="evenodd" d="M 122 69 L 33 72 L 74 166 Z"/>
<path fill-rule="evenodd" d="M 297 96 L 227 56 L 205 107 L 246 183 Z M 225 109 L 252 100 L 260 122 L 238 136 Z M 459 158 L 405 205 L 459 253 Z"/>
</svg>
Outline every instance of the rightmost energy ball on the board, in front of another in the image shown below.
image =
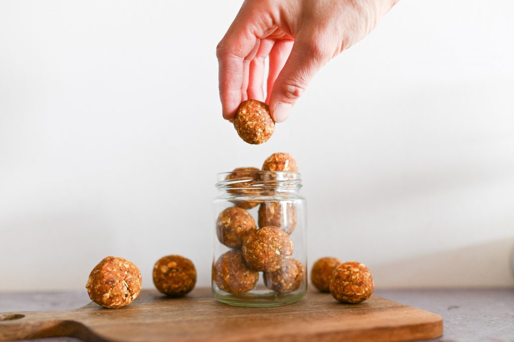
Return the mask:
<svg viewBox="0 0 514 342">
<path fill-rule="evenodd" d="M 373 289 L 370 270 L 356 261 L 337 266 L 330 279 L 330 293 L 342 303 L 360 303 L 370 298 Z"/>
</svg>

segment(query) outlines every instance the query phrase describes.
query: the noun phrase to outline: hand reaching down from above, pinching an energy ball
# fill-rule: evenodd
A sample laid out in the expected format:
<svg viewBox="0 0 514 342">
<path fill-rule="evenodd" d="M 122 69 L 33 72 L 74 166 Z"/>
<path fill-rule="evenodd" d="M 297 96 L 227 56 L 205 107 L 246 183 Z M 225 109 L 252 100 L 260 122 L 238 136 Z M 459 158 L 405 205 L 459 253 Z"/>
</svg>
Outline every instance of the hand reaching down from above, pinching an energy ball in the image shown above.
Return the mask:
<svg viewBox="0 0 514 342">
<path fill-rule="evenodd" d="M 329 60 L 368 34 L 398 0 L 246 0 L 216 48 L 223 117 L 242 101 L 263 101 L 269 56 L 271 117 L 287 119 Z"/>
</svg>

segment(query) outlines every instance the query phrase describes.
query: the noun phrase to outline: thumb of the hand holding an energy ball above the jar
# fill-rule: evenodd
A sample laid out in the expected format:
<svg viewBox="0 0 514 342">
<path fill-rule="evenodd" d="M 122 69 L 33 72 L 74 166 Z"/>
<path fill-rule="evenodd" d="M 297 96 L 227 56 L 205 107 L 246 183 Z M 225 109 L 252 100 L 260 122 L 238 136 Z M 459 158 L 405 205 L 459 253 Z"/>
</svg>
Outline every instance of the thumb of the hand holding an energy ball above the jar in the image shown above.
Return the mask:
<svg viewBox="0 0 514 342">
<path fill-rule="evenodd" d="M 328 60 L 329 53 L 320 40 L 295 41 L 271 89 L 269 109 L 275 122 L 283 122 L 289 117 L 293 105 L 305 92 L 310 80 Z"/>
</svg>

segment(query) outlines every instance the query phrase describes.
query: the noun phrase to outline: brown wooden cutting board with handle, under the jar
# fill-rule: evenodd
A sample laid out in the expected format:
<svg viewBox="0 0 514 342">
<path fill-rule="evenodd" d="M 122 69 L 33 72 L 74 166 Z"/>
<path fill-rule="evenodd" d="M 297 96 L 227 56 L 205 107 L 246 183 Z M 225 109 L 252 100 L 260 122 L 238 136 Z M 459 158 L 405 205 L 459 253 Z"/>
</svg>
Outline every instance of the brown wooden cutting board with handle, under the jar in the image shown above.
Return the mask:
<svg viewBox="0 0 514 342">
<path fill-rule="evenodd" d="M 71 311 L 0 314 L 1 341 L 73 336 L 91 342 L 392 342 L 442 334 L 443 318 L 436 314 L 376 296 L 341 304 L 314 290 L 298 303 L 276 308 L 232 307 L 199 288 L 178 299 L 143 290 L 117 310 L 91 302 Z"/>
</svg>

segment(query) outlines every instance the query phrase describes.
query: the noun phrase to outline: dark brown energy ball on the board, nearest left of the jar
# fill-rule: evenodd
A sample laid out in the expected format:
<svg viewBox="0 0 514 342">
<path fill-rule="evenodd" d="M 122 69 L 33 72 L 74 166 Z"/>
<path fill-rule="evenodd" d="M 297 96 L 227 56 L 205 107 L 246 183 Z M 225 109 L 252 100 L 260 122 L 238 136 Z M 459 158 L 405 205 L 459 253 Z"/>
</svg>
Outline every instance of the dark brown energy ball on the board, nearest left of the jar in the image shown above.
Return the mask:
<svg viewBox="0 0 514 342">
<path fill-rule="evenodd" d="M 160 293 L 180 297 L 193 290 L 196 269 L 188 258 L 179 255 L 162 257 L 154 265 L 154 285 Z"/>
</svg>

